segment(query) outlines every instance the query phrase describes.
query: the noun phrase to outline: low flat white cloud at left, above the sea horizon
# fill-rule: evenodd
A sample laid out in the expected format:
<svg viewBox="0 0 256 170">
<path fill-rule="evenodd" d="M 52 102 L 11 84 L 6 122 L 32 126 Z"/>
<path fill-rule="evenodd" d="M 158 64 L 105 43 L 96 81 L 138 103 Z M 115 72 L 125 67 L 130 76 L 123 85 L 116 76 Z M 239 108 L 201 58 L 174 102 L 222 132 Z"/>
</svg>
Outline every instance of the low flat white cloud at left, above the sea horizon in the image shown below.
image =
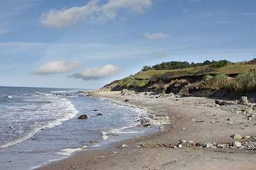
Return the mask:
<svg viewBox="0 0 256 170">
<path fill-rule="evenodd" d="M 39 69 L 33 71 L 33 74 L 58 74 L 63 72 L 70 72 L 73 69 L 82 67 L 80 62 L 66 62 L 63 60 L 60 61 L 51 61 L 47 64 L 44 64 Z"/>
</svg>

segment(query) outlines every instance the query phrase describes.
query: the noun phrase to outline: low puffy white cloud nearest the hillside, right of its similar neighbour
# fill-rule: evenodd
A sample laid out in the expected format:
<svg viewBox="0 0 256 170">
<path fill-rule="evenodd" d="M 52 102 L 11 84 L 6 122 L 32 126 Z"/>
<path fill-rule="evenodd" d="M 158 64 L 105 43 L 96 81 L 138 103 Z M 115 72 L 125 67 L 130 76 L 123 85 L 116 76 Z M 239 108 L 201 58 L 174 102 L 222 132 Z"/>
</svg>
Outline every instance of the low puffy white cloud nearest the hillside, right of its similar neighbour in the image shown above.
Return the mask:
<svg viewBox="0 0 256 170">
<path fill-rule="evenodd" d="M 70 77 L 74 77 L 76 79 L 83 79 L 83 80 L 97 80 L 97 79 L 103 79 L 105 77 L 110 77 L 112 76 L 119 67 L 116 67 L 112 64 L 107 64 L 105 67 L 92 67 L 85 69 L 81 72 L 75 73 L 71 75 Z"/>
</svg>

